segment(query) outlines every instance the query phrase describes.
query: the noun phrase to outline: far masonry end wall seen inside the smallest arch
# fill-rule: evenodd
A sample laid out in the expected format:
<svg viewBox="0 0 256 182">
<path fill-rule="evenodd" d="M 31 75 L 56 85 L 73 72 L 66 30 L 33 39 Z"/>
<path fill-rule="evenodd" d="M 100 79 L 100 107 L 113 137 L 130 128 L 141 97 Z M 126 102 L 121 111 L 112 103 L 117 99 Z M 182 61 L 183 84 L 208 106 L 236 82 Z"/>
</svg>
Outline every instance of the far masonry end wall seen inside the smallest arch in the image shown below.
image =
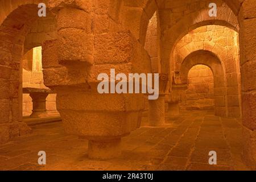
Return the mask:
<svg viewBox="0 0 256 182">
<path fill-rule="evenodd" d="M 205 65 L 196 65 L 188 73 L 188 89 L 185 91 L 181 109 L 214 109 L 213 73 Z"/>
</svg>

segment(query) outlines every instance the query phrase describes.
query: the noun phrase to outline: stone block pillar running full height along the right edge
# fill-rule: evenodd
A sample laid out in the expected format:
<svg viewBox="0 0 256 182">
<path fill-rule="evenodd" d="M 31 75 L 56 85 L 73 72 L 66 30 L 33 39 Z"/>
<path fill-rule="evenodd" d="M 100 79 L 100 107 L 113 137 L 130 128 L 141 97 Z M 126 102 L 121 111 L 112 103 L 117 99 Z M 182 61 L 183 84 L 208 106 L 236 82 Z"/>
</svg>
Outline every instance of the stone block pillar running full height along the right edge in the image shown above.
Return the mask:
<svg viewBox="0 0 256 182">
<path fill-rule="evenodd" d="M 245 0 L 240 19 L 240 55 L 243 118 L 243 158 L 256 169 L 256 2 Z"/>
</svg>

